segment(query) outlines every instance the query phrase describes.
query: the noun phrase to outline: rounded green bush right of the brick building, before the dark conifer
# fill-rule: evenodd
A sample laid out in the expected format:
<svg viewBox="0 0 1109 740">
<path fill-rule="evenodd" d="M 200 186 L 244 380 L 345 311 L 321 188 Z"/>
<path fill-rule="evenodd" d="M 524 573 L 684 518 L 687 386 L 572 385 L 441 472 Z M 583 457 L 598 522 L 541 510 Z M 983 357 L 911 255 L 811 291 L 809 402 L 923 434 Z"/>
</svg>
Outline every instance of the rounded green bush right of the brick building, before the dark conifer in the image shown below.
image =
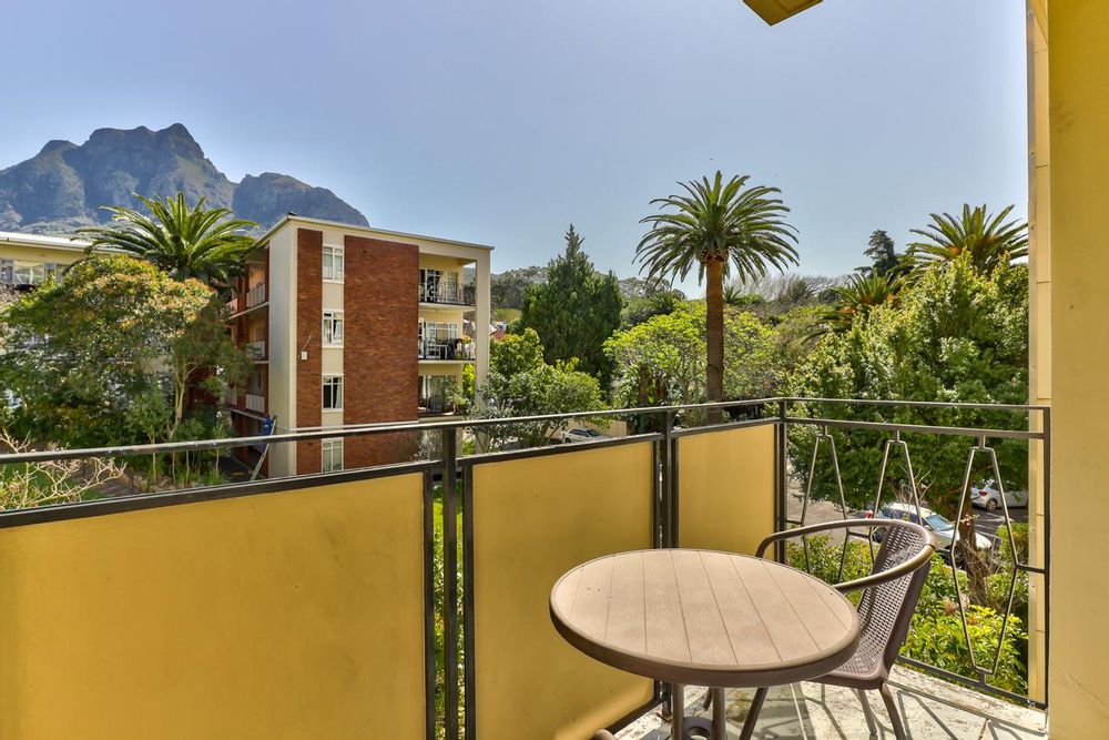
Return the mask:
<svg viewBox="0 0 1109 740">
<path fill-rule="evenodd" d="M 543 359 L 543 345 L 535 330 L 508 335 L 492 345 L 486 384 L 478 389 L 486 407 L 479 418 L 538 416 L 604 408 L 596 377 L 577 368 L 577 362 Z M 510 438 L 523 447 L 546 444 L 561 428 L 562 422 L 535 422 L 496 425 L 489 429 L 488 444 L 500 448 Z"/>
</svg>

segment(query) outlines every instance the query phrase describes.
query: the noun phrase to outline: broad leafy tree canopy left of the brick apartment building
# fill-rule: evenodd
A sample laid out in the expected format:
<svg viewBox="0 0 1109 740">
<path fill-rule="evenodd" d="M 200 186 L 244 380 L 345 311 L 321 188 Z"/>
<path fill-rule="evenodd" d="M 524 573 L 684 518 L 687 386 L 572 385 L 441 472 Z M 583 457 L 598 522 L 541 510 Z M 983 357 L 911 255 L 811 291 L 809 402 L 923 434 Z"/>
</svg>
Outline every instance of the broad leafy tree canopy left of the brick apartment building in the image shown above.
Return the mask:
<svg viewBox="0 0 1109 740">
<path fill-rule="evenodd" d="M 24 433 L 42 439 L 169 438 L 191 387 L 220 394 L 247 372 L 223 311 L 200 281 L 173 280 L 129 256 L 95 255 L 0 315 L 0 385 L 14 396 Z"/>
</svg>

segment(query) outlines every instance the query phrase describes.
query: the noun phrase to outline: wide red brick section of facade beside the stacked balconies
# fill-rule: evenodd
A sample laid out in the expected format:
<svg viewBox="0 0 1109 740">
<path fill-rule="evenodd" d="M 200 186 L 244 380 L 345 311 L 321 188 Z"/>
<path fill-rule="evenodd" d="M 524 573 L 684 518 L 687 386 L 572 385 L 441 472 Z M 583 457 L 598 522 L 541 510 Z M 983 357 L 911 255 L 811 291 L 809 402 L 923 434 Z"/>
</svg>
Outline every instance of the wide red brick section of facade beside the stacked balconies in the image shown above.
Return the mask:
<svg viewBox="0 0 1109 740">
<path fill-rule="evenodd" d="M 344 423 L 416 420 L 419 249 L 352 235 L 344 246 Z M 344 467 L 357 468 L 411 459 L 416 438 L 348 437 L 344 447 Z"/>
</svg>

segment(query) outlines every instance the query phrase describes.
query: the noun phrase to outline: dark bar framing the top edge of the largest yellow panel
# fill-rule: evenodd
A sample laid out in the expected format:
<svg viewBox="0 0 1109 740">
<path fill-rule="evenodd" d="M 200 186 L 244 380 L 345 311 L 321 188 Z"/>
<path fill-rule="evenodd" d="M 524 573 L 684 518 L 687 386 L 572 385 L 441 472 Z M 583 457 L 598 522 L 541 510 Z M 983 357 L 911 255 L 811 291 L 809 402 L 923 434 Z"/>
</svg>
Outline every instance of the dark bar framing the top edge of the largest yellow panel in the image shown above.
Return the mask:
<svg viewBox="0 0 1109 740">
<path fill-rule="evenodd" d="M 55 504 L 53 506 L 38 506 L 26 509 L 10 509 L 8 511 L 0 511 L 0 529 L 22 527 L 32 524 L 45 524 L 49 521 L 83 519 L 88 517 L 104 516 L 108 514 L 140 511 L 143 509 L 153 509 L 164 506 L 180 506 L 181 504 L 197 504 L 201 501 L 214 501 L 225 498 L 240 498 L 242 496 L 257 496 L 260 494 L 278 494 L 299 490 L 303 488 L 314 488 L 317 486 L 330 486 L 358 480 L 398 477 L 414 473 L 424 474 L 430 470 L 439 469 L 440 465 L 441 464 L 438 460 L 420 460 L 417 463 L 399 463 L 396 465 L 381 465 L 372 468 L 342 470 L 339 473 L 287 476 L 283 478 L 268 478 L 252 483 L 231 483 L 221 486 L 206 486 L 203 488 L 186 488 L 155 494 L 135 494 L 133 496 L 120 496 L 118 498 L 102 498 L 93 501 Z"/>
</svg>

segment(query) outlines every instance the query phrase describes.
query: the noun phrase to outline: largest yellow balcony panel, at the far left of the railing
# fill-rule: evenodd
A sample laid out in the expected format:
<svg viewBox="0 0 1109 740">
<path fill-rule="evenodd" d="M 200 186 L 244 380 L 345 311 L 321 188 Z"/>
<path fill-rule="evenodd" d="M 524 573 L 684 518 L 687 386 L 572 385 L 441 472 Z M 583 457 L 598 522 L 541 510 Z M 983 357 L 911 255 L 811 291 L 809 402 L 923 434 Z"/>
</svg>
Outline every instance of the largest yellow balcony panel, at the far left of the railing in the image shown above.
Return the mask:
<svg viewBox="0 0 1109 740">
<path fill-rule="evenodd" d="M 0 737 L 423 738 L 421 476 L 0 530 Z"/>
</svg>

